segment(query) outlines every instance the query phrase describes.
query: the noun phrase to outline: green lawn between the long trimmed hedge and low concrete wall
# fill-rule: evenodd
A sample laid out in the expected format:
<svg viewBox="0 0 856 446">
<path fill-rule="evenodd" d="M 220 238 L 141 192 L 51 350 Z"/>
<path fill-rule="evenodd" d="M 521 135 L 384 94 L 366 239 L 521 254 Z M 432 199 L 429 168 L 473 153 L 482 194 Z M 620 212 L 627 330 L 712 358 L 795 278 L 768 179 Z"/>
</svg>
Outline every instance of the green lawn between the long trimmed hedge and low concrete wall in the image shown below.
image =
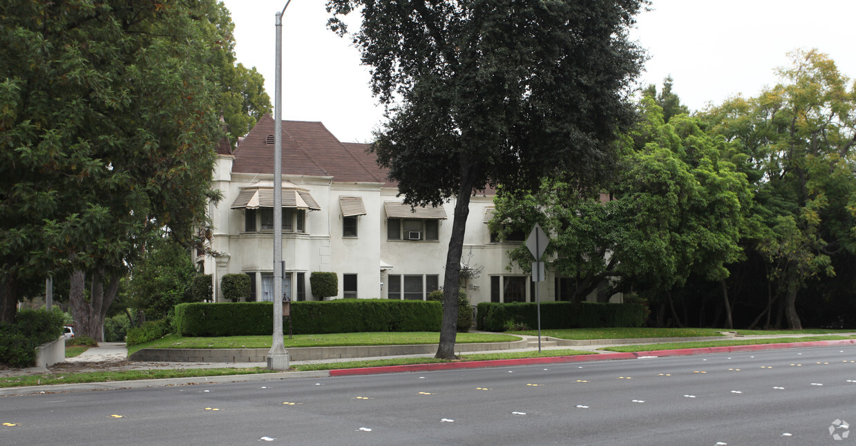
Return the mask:
<svg viewBox="0 0 856 446">
<path fill-rule="evenodd" d="M 519 340 L 519 336 L 502 333 L 458 333 L 456 338 L 456 342 L 461 344 Z M 152 342 L 131 346 L 128 348 L 128 354 L 133 354 L 140 348 L 270 348 L 270 342 L 271 336 L 181 337 L 169 335 Z M 288 335 L 285 335 L 284 342 L 286 348 L 436 344 L 440 342 L 440 333 L 433 331 L 328 333 L 324 335 L 294 335 L 293 339 L 288 339 Z"/>
</svg>

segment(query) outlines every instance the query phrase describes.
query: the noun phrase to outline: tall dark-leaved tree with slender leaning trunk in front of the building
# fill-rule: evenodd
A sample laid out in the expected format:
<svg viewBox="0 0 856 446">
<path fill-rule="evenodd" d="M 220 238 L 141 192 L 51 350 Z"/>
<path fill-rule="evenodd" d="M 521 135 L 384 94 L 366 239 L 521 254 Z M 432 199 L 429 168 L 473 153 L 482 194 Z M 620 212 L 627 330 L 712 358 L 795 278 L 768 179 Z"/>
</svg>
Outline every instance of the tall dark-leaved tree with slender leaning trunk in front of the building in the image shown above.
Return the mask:
<svg viewBox="0 0 856 446">
<path fill-rule="evenodd" d="M 455 357 L 470 196 L 544 175 L 609 171 L 643 51 L 627 39 L 645 0 L 328 0 L 330 27 L 360 11 L 354 44 L 389 121 L 372 150 L 410 205 L 455 198 L 437 358 Z"/>
</svg>

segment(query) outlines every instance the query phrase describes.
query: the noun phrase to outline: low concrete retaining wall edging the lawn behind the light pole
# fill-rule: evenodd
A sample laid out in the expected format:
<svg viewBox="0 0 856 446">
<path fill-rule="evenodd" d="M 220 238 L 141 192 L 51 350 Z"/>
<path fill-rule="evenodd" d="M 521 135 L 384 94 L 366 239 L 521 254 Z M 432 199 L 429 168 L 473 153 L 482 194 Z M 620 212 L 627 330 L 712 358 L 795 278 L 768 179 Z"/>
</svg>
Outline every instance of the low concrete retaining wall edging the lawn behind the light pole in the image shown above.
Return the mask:
<svg viewBox="0 0 856 446">
<path fill-rule="evenodd" d="M 455 352 L 481 352 L 526 348 L 525 339 L 514 342 L 485 342 L 455 344 Z M 374 345 L 349 347 L 286 348 L 289 360 L 334 360 L 367 358 L 404 354 L 432 354 L 437 344 Z M 131 354 L 129 360 L 169 362 L 266 362 L 270 348 L 143 348 Z"/>
</svg>

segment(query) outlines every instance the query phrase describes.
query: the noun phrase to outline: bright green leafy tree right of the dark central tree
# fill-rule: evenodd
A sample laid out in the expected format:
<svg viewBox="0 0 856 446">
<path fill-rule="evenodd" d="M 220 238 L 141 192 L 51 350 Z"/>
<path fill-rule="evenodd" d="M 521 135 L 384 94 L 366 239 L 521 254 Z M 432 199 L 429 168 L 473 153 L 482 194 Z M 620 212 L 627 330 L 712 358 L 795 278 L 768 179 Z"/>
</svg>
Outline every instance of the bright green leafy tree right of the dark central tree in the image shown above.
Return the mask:
<svg viewBox="0 0 856 446">
<path fill-rule="evenodd" d="M 500 189 L 497 196 L 491 228 L 540 223 L 549 230 L 550 266 L 575 279 L 576 302 L 603 281 L 668 295 L 692 273 L 721 281 L 728 277 L 725 265 L 740 259 L 752 189 L 723 156 L 728 145 L 705 134 L 697 118 L 664 122 L 651 96 L 642 98 L 639 115 L 623 139 L 621 169 L 603 193 L 583 195 L 566 182 L 545 180 L 534 193 Z M 509 258 L 521 267 L 530 261 L 522 246 Z"/>
</svg>

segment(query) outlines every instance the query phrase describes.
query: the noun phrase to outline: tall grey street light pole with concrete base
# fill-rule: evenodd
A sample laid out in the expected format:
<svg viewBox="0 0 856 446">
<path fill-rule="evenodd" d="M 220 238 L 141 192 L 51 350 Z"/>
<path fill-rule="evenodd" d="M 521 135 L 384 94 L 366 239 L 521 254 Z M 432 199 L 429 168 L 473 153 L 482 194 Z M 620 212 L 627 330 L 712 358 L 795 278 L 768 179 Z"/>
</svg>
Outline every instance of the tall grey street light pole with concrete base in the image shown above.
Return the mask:
<svg viewBox="0 0 856 446">
<path fill-rule="evenodd" d="M 282 340 L 282 15 L 276 13 L 276 82 L 274 98 L 273 161 L 273 342 L 268 352 L 269 370 L 288 370 L 288 350 Z"/>
</svg>

